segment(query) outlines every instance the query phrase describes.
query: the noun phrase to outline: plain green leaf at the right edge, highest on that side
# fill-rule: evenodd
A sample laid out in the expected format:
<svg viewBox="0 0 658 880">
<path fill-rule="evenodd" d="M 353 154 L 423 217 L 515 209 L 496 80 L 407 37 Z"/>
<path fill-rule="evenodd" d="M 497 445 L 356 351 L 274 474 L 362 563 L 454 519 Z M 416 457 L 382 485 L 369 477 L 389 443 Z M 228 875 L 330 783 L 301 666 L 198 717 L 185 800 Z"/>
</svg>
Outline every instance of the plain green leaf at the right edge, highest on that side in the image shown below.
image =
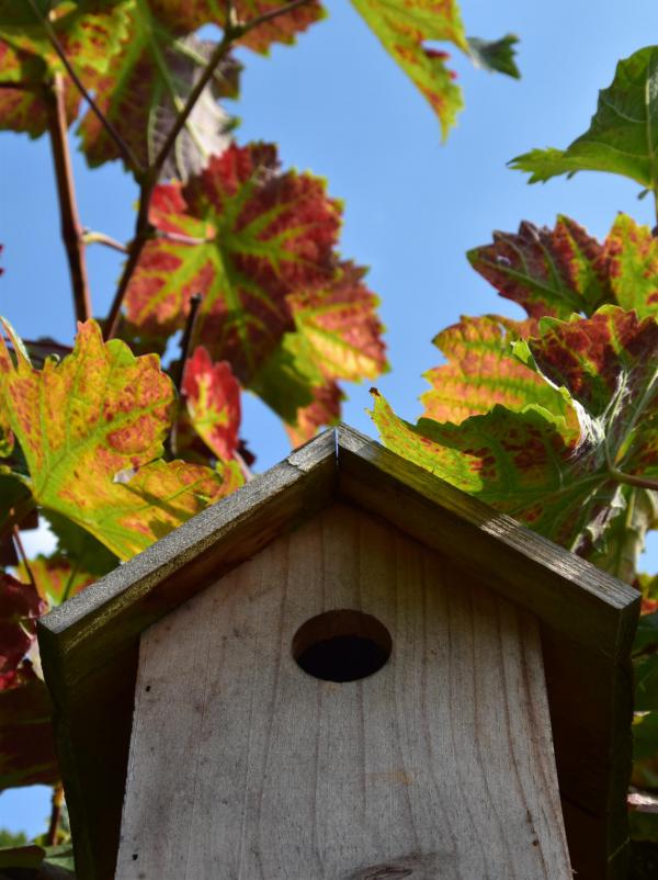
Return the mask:
<svg viewBox="0 0 658 880">
<path fill-rule="evenodd" d="M 612 84 L 599 93 L 589 129 L 567 149 L 533 149 L 510 166 L 530 183 L 576 171 L 610 171 L 655 190 L 658 187 L 658 47 L 619 63 Z"/>
</svg>

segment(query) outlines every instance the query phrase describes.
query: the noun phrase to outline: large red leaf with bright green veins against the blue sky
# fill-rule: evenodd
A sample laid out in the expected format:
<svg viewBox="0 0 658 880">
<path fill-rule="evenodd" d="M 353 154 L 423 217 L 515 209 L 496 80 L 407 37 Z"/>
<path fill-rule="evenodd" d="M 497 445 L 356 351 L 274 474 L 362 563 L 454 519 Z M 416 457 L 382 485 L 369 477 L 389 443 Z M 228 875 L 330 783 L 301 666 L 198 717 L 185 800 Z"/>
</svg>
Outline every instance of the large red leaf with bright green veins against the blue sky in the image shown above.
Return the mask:
<svg viewBox="0 0 658 880">
<path fill-rule="evenodd" d="M 202 244 L 147 244 L 127 291 L 129 321 L 143 335 L 171 334 L 202 293 L 197 341 L 249 386 L 294 329 L 287 296 L 333 277 L 338 203 L 317 178 L 282 173 L 273 146 L 254 144 L 229 147 L 185 187 L 159 187 L 150 219 Z"/>
</svg>

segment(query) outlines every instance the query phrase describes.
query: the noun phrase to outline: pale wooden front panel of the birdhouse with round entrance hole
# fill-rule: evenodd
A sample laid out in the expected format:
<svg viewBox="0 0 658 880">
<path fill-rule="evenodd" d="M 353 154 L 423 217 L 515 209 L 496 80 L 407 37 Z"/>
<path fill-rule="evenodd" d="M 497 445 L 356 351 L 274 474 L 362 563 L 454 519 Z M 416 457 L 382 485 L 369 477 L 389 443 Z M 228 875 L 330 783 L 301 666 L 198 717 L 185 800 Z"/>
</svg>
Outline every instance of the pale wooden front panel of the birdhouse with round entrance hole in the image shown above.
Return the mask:
<svg viewBox="0 0 658 880">
<path fill-rule="evenodd" d="M 118 880 L 570 880 L 534 618 L 334 504 L 141 635 Z"/>
</svg>

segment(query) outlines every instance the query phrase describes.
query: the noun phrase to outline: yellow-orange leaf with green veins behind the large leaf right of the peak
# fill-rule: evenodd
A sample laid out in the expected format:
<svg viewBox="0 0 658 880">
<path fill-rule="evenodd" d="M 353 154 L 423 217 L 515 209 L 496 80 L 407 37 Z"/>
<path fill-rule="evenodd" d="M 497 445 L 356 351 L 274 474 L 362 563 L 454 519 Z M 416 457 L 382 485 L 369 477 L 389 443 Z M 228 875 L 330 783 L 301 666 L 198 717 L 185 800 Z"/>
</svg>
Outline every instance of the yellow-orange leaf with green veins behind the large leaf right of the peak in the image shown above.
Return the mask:
<svg viewBox="0 0 658 880">
<path fill-rule="evenodd" d="M 488 413 L 495 404 L 508 409 L 536 404 L 571 417 L 565 396 L 512 354 L 512 342 L 533 329 L 531 320 L 486 315 L 463 317 L 442 330 L 433 342 L 447 363 L 423 374 L 432 386 L 421 396 L 423 417 L 460 422 Z"/>
</svg>

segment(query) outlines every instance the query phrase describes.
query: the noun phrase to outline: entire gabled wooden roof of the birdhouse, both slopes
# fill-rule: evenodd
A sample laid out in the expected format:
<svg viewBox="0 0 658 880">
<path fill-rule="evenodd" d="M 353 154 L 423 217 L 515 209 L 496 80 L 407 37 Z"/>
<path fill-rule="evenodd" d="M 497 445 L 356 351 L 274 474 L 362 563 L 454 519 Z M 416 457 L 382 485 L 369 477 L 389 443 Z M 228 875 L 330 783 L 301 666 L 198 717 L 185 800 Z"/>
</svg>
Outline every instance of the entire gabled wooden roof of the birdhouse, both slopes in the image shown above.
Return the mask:
<svg viewBox="0 0 658 880">
<path fill-rule="evenodd" d="M 639 594 L 340 426 L 39 621 L 81 877 L 113 876 L 140 633 L 333 500 L 384 518 L 538 619 L 569 843 L 598 835 L 619 862 Z"/>
</svg>

